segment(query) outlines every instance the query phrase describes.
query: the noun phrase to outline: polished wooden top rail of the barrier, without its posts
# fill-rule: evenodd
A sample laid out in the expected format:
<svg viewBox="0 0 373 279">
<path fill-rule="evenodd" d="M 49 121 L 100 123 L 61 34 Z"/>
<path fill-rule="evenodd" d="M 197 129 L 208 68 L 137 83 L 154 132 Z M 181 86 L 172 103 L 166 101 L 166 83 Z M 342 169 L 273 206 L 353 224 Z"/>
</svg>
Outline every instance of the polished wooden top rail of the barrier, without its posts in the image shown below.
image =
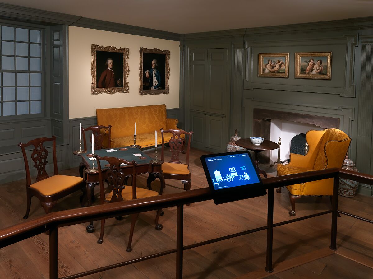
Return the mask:
<svg viewBox="0 0 373 279">
<path fill-rule="evenodd" d="M 373 176 L 350 170 L 332 168 L 315 170 L 311 172 L 296 173 L 292 175 L 276 176 L 262 179 L 266 189 L 274 189 L 279 186 L 287 186 L 303 182 L 315 181 L 339 176 L 367 184 L 373 184 Z M 118 215 L 150 211 L 158 208 L 177 206 L 178 204 L 196 203 L 211 200 L 213 197 L 209 188 L 194 189 L 177 194 L 164 194 L 157 197 L 148 197 L 138 200 L 109 203 L 98 206 L 84 207 L 57 211 L 44 216 L 27 220 L 23 223 L 0 230 L 0 248 L 15 242 L 38 235 L 49 230 L 50 226 L 69 226 L 85 223 L 92 220 L 111 218 Z"/>
</svg>

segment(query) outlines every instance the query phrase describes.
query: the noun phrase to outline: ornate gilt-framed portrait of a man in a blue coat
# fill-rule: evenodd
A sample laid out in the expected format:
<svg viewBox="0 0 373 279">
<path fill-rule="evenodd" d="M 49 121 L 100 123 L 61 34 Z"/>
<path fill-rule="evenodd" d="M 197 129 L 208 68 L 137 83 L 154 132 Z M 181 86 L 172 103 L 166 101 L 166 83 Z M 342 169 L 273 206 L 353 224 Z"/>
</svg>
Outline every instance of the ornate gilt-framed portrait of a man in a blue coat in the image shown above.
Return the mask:
<svg viewBox="0 0 373 279">
<path fill-rule="evenodd" d="M 169 94 L 170 51 L 140 48 L 140 95 Z"/>
</svg>

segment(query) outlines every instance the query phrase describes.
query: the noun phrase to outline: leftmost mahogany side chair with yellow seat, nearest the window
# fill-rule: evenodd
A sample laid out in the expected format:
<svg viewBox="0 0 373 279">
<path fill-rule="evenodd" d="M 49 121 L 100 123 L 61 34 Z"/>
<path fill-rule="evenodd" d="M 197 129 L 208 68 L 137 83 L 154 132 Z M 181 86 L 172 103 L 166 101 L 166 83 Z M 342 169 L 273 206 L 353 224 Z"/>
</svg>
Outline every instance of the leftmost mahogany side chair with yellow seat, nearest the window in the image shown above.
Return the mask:
<svg viewBox="0 0 373 279">
<path fill-rule="evenodd" d="M 46 147 L 44 147 L 44 142 L 48 141 L 53 142 L 53 176 L 49 176 L 46 172 L 46 164 L 48 163 L 48 151 Z M 27 159 L 28 156 L 25 150 L 25 148 L 31 145 L 33 146 L 31 160 L 38 172 L 34 183 L 31 182 L 29 164 Z M 46 213 L 50 213 L 54 204 L 56 204 L 59 198 L 65 197 L 79 189 L 82 190 L 85 195 L 85 184 L 83 178 L 78 176 L 58 174 L 56 137 L 53 136 L 51 138 L 36 138 L 32 139 L 26 144 L 20 142 L 18 146 L 22 149 L 23 160 L 25 161 L 26 169 L 27 209 L 25 216 L 23 216 L 23 219 L 28 218 L 32 196 L 35 196 L 40 200 L 41 206 Z M 84 198 L 82 200 L 84 200 Z"/>
</svg>

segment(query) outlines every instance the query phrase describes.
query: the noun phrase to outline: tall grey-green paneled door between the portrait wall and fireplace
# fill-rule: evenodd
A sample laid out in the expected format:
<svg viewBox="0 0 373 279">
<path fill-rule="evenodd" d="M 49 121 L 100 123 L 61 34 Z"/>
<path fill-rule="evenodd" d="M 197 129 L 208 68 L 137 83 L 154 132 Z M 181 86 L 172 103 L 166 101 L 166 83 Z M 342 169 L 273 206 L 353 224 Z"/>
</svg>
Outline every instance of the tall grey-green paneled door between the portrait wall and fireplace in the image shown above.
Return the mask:
<svg viewBox="0 0 373 279">
<path fill-rule="evenodd" d="M 227 54 L 227 48 L 214 48 L 193 49 L 190 55 L 192 146 L 211 152 L 224 151 L 229 137 Z"/>
</svg>

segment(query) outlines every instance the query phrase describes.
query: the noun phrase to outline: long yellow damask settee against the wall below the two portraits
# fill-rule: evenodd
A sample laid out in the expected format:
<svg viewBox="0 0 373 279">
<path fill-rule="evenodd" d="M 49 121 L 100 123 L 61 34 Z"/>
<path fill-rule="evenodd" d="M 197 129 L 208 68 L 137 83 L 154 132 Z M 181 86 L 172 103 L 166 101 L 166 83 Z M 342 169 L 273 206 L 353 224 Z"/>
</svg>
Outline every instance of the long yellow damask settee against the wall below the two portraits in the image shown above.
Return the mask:
<svg viewBox="0 0 373 279">
<path fill-rule="evenodd" d="M 97 109 L 97 125 L 109 126 L 111 129 L 111 147 L 125 147 L 134 144 L 136 122 L 136 144 L 144 147 L 156 145 L 155 134 L 157 130 L 157 143 L 162 144 L 160 129 L 179 129 L 178 119 L 167 118 L 166 105 L 118 107 L 115 109 Z M 169 135 L 168 135 L 169 134 Z M 172 137 L 168 133 L 167 141 Z M 108 137 L 104 138 L 104 146 Z"/>
</svg>

